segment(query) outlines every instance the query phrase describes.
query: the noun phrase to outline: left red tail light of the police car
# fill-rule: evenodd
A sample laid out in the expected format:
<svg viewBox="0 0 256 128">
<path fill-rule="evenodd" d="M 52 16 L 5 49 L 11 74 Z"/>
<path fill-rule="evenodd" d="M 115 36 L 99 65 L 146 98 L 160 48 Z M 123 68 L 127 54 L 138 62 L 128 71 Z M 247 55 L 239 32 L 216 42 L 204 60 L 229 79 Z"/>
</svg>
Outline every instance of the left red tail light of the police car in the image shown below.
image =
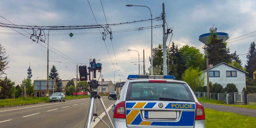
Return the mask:
<svg viewBox="0 0 256 128">
<path fill-rule="evenodd" d="M 125 101 L 115 105 L 114 118 L 125 119 Z"/>
</svg>

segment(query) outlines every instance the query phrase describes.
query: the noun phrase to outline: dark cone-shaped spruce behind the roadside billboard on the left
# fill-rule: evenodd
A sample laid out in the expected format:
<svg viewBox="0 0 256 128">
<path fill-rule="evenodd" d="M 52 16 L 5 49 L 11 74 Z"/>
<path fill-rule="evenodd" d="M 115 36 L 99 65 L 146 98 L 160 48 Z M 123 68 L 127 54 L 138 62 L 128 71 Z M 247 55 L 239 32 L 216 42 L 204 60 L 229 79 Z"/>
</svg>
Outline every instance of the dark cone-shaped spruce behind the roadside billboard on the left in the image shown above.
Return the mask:
<svg viewBox="0 0 256 128">
<path fill-rule="evenodd" d="M 50 73 L 49 73 L 49 79 L 50 80 L 56 80 L 57 91 L 61 92 L 62 85 L 61 85 L 59 73 L 57 71 L 58 71 L 57 68 L 54 65 L 52 65 Z"/>
</svg>

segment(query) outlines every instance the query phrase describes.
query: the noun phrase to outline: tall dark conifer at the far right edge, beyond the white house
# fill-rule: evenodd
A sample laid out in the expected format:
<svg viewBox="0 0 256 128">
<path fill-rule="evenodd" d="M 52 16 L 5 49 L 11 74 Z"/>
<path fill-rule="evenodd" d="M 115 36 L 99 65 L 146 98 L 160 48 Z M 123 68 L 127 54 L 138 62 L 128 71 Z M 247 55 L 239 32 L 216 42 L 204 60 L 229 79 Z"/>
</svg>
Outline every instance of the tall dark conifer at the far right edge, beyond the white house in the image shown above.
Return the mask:
<svg viewBox="0 0 256 128">
<path fill-rule="evenodd" d="M 256 48 L 255 42 L 251 42 L 251 45 L 248 50 L 248 54 L 246 55 L 247 65 L 245 66 L 246 71 L 249 73 L 247 77 L 253 78 L 252 72 L 256 70 Z"/>
</svg>

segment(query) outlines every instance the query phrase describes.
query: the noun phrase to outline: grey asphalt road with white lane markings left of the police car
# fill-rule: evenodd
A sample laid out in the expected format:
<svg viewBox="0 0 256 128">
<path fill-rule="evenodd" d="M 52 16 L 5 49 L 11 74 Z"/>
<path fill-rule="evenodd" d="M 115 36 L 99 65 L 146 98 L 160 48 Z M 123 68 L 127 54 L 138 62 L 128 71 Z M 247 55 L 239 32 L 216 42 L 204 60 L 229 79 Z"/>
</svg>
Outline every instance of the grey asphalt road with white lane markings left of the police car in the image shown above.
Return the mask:
<svg viewBox="0 0 256 128">
<path fill-rule="evenodd" d="M 102 97 L 106 109 L 114 103 Z M 0 127 L 79 127 L 84 124 L 90 98 L 0 109 Z M 97 100 L 97 114 L 104 111 Z M 108 122 L 108 120 L 106 120 Z"/>
</svg>

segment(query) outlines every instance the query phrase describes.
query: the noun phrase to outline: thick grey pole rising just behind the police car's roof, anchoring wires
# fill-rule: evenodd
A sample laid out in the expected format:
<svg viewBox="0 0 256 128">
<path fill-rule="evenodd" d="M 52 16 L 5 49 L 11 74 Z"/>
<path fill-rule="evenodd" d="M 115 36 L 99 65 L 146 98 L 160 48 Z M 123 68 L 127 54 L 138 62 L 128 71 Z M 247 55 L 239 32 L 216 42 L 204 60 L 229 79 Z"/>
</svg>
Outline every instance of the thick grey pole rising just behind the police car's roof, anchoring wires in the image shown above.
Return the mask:
<svg viewBox="0 0 256 128">
<path fill-rule="evenodd" d="M 163 75 L 167 75 L 167 65 L 166 65 L 166 37 L 165 37 L 165 10 L 164 10 L 164 3 L 163 3 L 163 58 L 164 58 Z"/>
</svg>

